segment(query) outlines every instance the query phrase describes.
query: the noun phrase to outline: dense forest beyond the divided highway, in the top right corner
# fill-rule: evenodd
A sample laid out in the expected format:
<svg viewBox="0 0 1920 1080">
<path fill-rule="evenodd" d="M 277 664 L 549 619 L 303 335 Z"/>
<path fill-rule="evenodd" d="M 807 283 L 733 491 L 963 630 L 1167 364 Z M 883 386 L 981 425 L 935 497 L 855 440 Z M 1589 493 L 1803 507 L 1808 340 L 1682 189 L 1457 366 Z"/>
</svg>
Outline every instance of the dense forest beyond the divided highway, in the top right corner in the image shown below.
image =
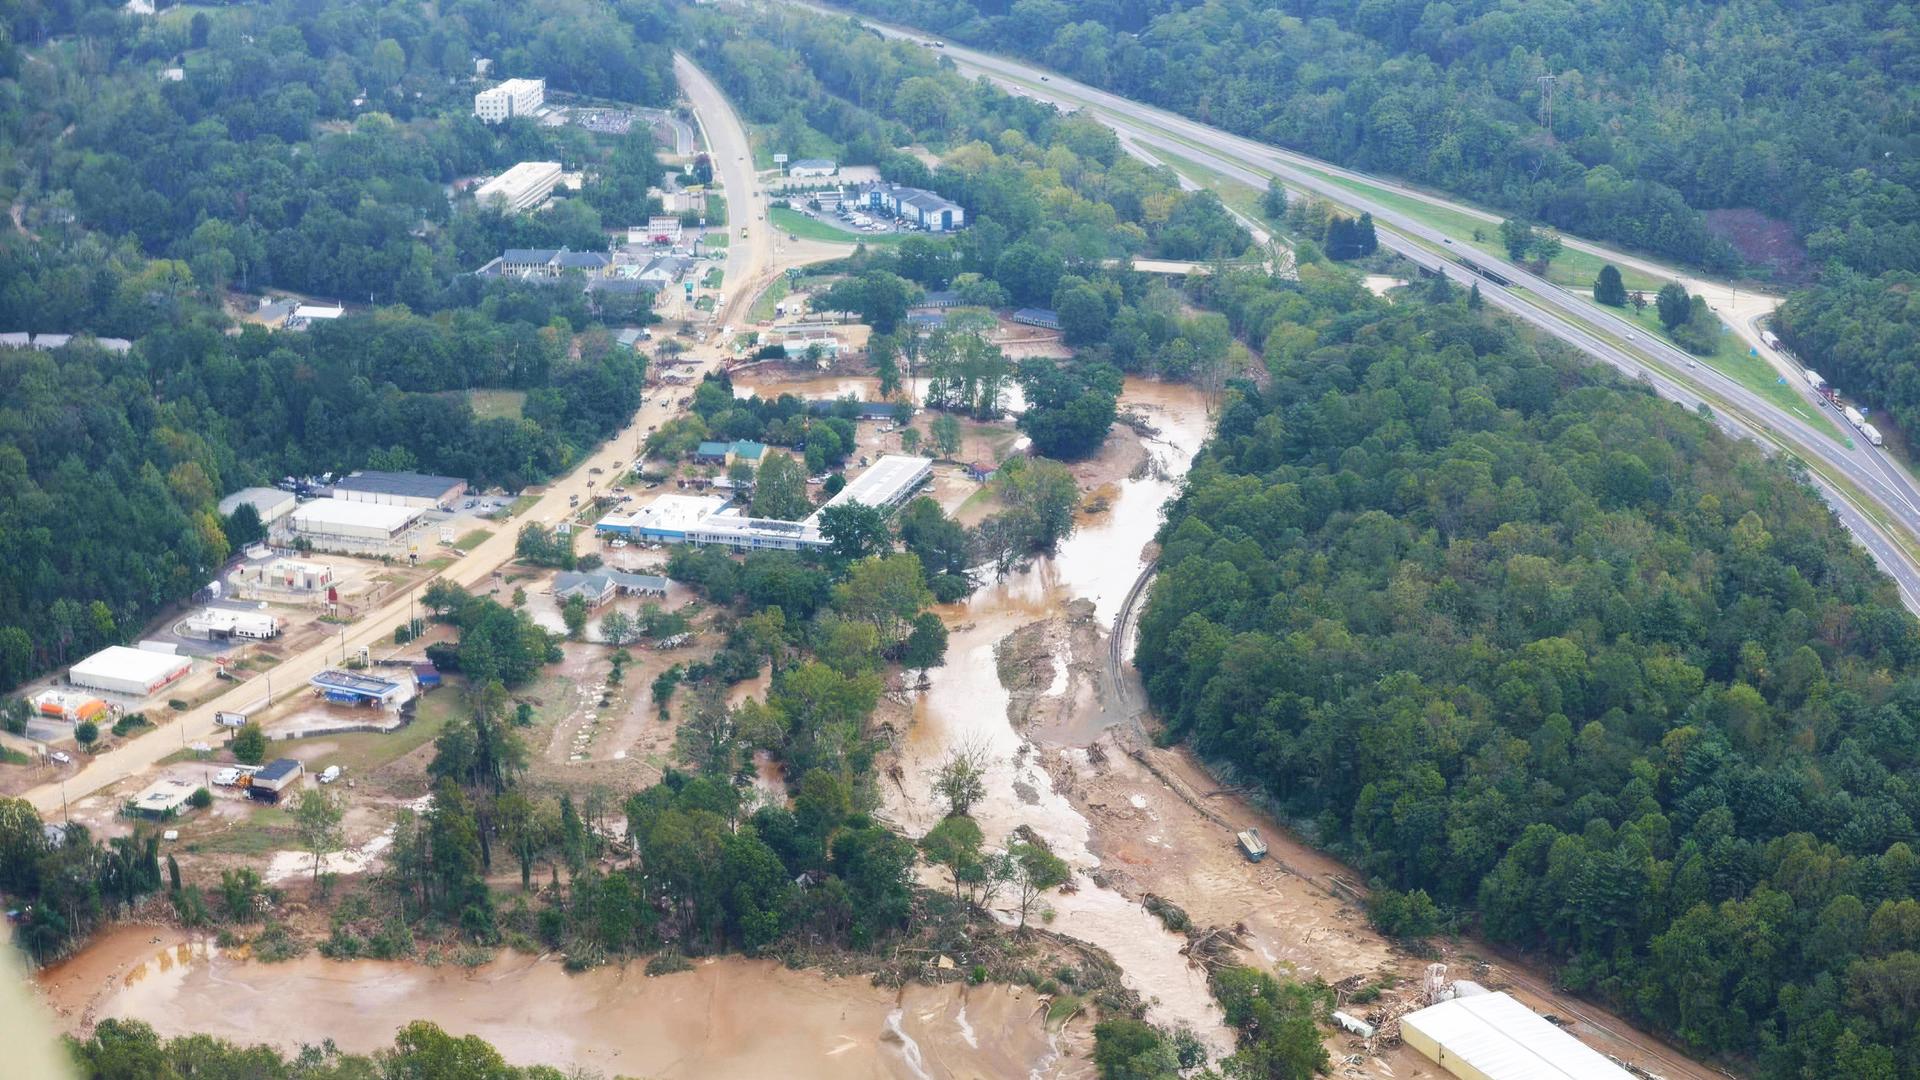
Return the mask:
<svg viewBox="0 0 1920 1080">
<path fill-rule="evenodd" d="M 1782 336 L 1901 427 L 1920 421 L 1910 4 L 849 6 L 1580 236 L 1788 284 L 1820 273 Z M 1715 229 L 1707 211 L 1732 213 Z"/>
</svg>

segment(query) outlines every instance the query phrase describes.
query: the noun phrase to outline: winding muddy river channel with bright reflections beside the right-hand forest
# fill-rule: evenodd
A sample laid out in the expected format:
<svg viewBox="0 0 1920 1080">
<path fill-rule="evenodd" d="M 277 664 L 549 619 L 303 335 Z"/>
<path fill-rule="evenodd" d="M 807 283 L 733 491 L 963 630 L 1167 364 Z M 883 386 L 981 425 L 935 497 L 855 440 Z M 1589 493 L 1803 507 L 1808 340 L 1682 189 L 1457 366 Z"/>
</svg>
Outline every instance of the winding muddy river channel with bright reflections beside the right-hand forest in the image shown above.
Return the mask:
<svg viewBox="0 0 1920 1080">
<path fill-rule="evenodd" d="M 956 748 L 981 748 L 987 798 L 972 811 L 995 840 L 1018 826 L 1033 828 L 1075 871 L 1075 890 L 1048 896 L 1046 922 L 1112 953 L 1127 984 L 1148 1001 L 1158 1022 L 1187 1024 L 1215 1051 L 1231 1038 L 1206 976 L 1179 953 L 1185 938 L 1125 896 L 1096 886 L 1087 874 L 1100 865 L 1089 849 L 1089 822 L 1054 790 L 1035 748 L 1008 719 L 1008 692 L 1000 684 L 995 644 L 1016 628 L 1060 615 L 1073 600 L 1091 600 L 1110 626 L 1133 582 L 1146 569 L 1144 548 L 1160 528 L 1162 505 L 1179 490 L 1179 477 L 1192 465 L 1208 430 L 1200 390 L 1129 379 L 1121 405 L 1140 411 L 1160 434 L 1148 442 L 1152 469 L 1123 480 L 1112 505 L 1083 521 L 1060 553 L 979 588 L 964 603 L 943 609 L 952 628 L 947 665 L 931 673 L 931 688 L 914 709 L 914 728 L 900 746 L 904 782 L 887 786 L 887 815 L 908 832 L 931 828 L 943 807 L 931 798 L 927 778 Z M 1056 661 L 1056 673 L 1060 671 Z M 1083 749 L 1098 728 L 1068 738 L 1066 759 L 1085 767 Z"/>
</svg>

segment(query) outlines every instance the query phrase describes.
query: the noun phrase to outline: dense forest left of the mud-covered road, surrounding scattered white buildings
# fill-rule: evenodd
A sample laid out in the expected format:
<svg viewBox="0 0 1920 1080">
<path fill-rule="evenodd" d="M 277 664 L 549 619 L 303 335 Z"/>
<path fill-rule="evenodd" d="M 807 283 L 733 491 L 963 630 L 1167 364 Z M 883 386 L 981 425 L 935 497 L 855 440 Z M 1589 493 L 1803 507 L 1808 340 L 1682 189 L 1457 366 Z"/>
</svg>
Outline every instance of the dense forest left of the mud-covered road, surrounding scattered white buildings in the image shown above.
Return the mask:
<svg viewBox="0 0 1920 1080">
<path fill-rule="evenodd" d="M 505 246 L 603 248 L 603 215 L 653 209 L 645 127 L 609 138 L 470 115 L 476 54 L 555 90 L 664 104 L 653 6 L 465 2 L 428 19 L 371 0 L 159 17 L 71 4 L 6 19 L 0 194 L 17 229 L 0 238 L 0 329 L 136 344 L 0 350 L 0 688 L 205 584 L 248 538 L 215 515 L 228 490 L 365 465 L 518 488 L 639 404 L 641 357 L 589 331 L 651 319 L 643 300 L 463 271 Z M 179 81 L 157 77 L 167 63 Z M 597 179 L 541 215 L 447 198 L 522 158 Z M 230 288 L 380 307 L 230 336 Z M 526 392 L 520 417 L 476 419 L 474 388 Z"/>
</svg>

